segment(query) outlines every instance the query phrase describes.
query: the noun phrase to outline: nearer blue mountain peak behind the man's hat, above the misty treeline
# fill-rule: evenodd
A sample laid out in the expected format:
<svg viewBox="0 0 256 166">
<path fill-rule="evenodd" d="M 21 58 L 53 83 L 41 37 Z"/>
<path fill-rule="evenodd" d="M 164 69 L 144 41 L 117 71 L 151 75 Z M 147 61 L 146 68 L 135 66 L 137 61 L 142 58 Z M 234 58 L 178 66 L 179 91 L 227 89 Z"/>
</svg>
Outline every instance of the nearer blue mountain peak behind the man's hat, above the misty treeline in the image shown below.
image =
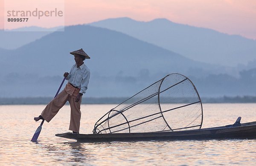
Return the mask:
<svg viewBox="0 0 256 166">
<path fill-rule="evenodd" d="M 52 65 L 53 68 L 58 61 L 63 62 L 64 66 L 69 65 L 67 62 L 73 58 L 69 52 L 78 48 L 84 48 L 89 55 L 92 54 L 92 59 L 88 61 L 104 76 L 116 75 L 120 71 L 125 75 L 134 76 L 142 69 L 151 73 L 168 73 L 170 70 L 191 73 L 192 70 L 203 69 L 209 74 L 219 73 L 218 68 L 221 68 L 193 61 L 126 34 L 89 25 L 67 27 L 65 32 L 49 34 L 11 52 L 17 56 L 17 65 L 31 62 L 30 66 L 33 66 L 35 71 L 41 70 L 37 68 L 38 63 Z M 52 73 L 52 69 L 47 70 Z M 58 69 L 55 70 L 57 71 Z"/>
</svg>

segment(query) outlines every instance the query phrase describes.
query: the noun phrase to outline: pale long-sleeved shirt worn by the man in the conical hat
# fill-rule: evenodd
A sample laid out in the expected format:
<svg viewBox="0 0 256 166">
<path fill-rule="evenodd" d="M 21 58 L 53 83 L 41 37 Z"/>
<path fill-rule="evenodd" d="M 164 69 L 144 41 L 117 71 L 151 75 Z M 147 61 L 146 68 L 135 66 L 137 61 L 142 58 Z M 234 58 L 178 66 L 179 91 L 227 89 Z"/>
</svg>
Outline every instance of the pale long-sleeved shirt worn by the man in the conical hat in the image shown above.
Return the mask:
<svg viewBox="0 0 256 166">
<path fill-rule="evenodd" d="M 72 66 L 66 79 L 70 84 L 73 84 L 80 89 L 79 93 L 85 93 L 90 79 L 90 69 L 84 64 L 77 68 L 77 65 L 75 64 Z"/>
</svg>

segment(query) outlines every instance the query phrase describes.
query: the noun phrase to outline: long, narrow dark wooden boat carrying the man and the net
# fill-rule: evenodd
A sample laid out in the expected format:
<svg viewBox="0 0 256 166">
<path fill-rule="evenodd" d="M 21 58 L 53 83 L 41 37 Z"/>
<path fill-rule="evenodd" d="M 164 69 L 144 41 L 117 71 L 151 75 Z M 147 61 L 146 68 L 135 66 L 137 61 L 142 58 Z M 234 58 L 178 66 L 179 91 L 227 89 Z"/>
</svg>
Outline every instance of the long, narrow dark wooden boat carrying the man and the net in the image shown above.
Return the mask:
<svg viewBox="0 0 256 166">
<path fill-rule="evenodd" d="M 240 119 L 233 125 L 185 131 L 108 134 L 73 134 L 67 132 L 56 134 L 56 136 L 76 139 L 78 142 L 256 139 L 256 121 L 241 124 Z"/>
</svg>

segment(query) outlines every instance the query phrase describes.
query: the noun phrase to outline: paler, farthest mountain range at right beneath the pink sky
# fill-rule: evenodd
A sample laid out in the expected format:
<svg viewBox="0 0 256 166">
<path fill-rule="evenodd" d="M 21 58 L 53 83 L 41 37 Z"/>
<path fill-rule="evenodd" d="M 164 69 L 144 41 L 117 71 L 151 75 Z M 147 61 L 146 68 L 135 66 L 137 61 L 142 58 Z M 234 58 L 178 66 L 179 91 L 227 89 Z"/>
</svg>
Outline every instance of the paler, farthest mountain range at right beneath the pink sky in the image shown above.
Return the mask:
<svg viewBox="0 0 256 166">
<path fill-rule="evenodd" d="M 102 20 L 90 25 L 128 34 L 195 61 L 236 66 L 246 65 L 256 59 L 256 40 L 177 24 L 166 19 L 141 22 L 125 17 Z"/>
</svg>

